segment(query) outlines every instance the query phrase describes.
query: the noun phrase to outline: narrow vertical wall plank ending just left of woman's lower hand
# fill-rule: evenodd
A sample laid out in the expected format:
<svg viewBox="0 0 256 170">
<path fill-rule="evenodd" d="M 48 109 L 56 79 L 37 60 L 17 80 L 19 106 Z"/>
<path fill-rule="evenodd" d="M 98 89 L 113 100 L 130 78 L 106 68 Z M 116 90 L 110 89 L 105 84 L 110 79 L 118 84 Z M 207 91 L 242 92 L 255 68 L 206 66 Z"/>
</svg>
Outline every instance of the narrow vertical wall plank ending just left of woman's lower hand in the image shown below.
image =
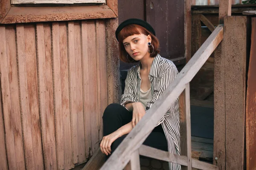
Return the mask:
<svg viewBox="0 0 256 170">
<path fill-rule="evenodd" d="M 95 21 L 87 22 L 87 40 L 88 40 L 88 63 L 89 63 L 89 96 L 90 96 L 90 128 L 92 153 L 99 147 L 99 130 L 98 130 L 98 99 L 97 99 L 97 63 L 96 63 L 96 27 Z"/>
</svg>

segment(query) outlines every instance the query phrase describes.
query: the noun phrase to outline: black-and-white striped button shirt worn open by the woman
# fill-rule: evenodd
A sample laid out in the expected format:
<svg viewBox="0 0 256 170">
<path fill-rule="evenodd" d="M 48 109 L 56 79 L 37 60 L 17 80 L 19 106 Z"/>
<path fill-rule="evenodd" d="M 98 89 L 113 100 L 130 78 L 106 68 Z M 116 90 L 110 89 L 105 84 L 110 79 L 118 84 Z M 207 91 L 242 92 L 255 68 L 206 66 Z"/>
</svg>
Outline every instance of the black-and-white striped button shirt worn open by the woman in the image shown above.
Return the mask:
<svg viewBox="0 0 256 170">
<path fill-rule="evenodd" d="M 146 113 L 149 108 L 156 102 L 161 94 L 166 90 L 168 85 L 175 79 L 178 71 L 176 66 L 169 59 L 165 59 L 157 54 L 151 65 L 148 78 L 151 82 L 152 99 L 146 105 Z M 121 105 L 129 102 L 140 102 L 140 64 L 133 66 L 127 73 L 125 79 L 125 91 L 121 96 Z M 180 117 L 178 99 L 173 102 L 169 110 L 160 119 L 157 125 L 162 125 L 165 133 L 168 151 L 180 155 Z M 156 126 L 157 126 L 156 125 Z M 179 164 L 169 162 L 170 170 L 180 170 Z"/>
</svg>

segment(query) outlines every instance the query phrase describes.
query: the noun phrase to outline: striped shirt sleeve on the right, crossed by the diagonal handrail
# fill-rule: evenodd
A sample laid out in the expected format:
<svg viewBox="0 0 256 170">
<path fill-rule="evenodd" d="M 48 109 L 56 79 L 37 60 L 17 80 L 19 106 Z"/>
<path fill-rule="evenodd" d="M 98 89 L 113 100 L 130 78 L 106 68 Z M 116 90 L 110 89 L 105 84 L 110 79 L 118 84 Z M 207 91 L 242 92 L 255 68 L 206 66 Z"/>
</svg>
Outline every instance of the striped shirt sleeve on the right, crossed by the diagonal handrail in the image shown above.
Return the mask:
<svg viewBox="0 0 256 170">
<path fill-rule="evenodd" d="M 158 80 L 157 85 L 154 87 L 152 100 L 147 103 L 147 107 L 146 107 L 147 111 L 149 108 L 151 108 L 151 106 L 154 104 L 154 102 L 157 101 L 159 96 L 161 96 L 161 94 L 163 94 L 163 92 L 166 90 L 166 88 L 175 79 L 177 74 L 178 74 L 178 71 L 177 71 L 177 68 L 175 65 L 172 65 L 169 68 L 166 68 L 166 70 L 163 72 L 161 78 Z M 160 125 L 164 121 L 166 116 L 169 116 L 171 113 L 173 113 L 174 105 L 175 105 L 175 102 L 172 103 L 169 110 L 164 114 L 164 116 L 160 119 L 160 121 L 157 123 L 156 126 Z"/>
</svg>

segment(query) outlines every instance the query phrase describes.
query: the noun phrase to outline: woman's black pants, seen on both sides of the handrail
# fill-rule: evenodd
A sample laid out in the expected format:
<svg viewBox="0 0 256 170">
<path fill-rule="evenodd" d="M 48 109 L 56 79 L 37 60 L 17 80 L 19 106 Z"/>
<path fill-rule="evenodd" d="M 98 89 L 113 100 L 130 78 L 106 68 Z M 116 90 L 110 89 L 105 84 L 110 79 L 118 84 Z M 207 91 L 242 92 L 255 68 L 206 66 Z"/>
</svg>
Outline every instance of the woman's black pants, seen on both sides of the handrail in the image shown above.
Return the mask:
<svg viewBox="0 0 256 170">
<path fill-rule="evenodd" d="M 113 133 L 123 125 L 126 125 L 129 122 L 131 122 L 132 112 L 128 111 L 122 105 L 113 103 L 111 105 L 108 105 L 108 107 L 105 109 L 102 118 L 103 136 L 106 136 L 110 133 Z M 127 135 L 119 137 L 112 143 L 112 153 L 122 142 L 125 136 Z M 155 127 L 154 130 L 149 134 L 147 139 L 143 142 L 143 144 L 160 150 L 168 151 L 167 141 L 162 126 L 159 125 Z M 110 155 L 106 156 L 106 159 L 108 159 L 109 156 Z"/>
</svg>

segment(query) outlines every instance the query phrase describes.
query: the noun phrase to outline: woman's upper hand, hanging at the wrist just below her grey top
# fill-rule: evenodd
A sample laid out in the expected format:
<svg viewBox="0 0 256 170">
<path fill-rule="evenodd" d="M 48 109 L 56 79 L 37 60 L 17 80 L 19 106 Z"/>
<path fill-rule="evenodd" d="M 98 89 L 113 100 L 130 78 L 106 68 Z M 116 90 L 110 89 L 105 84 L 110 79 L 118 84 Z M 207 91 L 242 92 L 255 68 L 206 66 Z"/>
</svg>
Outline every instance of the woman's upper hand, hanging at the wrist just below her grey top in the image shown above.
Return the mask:
<svg viewBox="0 0 256 170">
<path fill-rule="evenodd" d="M 133 112 L 132 112 L 132 127 L 137 125 L 140 119 L 145 115 L 145 108 L 141 102 L 132 103 Z"/>
</svg>

